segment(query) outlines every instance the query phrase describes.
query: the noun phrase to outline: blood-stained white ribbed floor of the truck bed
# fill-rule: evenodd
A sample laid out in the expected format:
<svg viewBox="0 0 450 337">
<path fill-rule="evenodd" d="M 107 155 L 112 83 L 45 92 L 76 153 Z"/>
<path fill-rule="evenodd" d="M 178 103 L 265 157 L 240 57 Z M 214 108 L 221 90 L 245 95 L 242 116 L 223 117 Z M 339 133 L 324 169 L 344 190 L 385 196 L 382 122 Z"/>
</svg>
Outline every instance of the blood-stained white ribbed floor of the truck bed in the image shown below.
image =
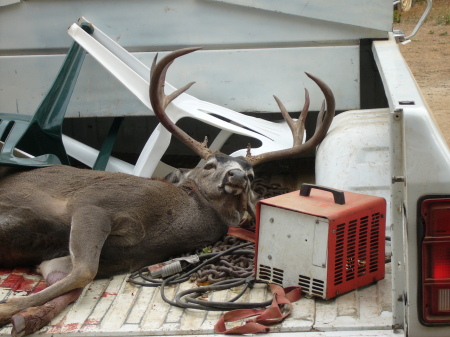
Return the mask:
<svg viewBox="0 0 450 337">
<path fill-rule="evenodd" d="M 392 313 L 389 289 L 390 268 L 386 278 L 376 285 L 352 291 L 336 299 L 323 301 L 303 297 L 293 303 L 293 311 L 281 324 L 272 326 L 272 333 L 290 336 L 399 336 L 391 329 Z M 1 274 L 0 282 L 10 274 Z M 21 279 L 20 277 L 23 277 Z M 16 270 L 13 276 L 32 288 L 40 277 Z M 81 297 L 51 323 L 42 328 L 39 336 L 175 336 L 210 335 L 222 312 L 182 310 L 171 307 L 161 299 L 159 288 L 135 286 L 126 281 L 127 275 L 96 280 L 85 288 Z M 197 287 L 185 282 L 170 286 L 166 294 Z M 236 295 L 235 290 L 209 294 L 209 299 L 223 301 Z M 0 288 L 0 300 L 23 296 Z M 239 301 L 261 302 L 271 298 L 263 284 L 256 284 Z M 238 322 L 240 324 L 240 322 Z M 11 326 L 0 328 L 0 336 L 9 336 Z M 295 333 L 295 334 L 294 334 Z M 271 335 L 271 334 L 270 334 Z M 269 336 L 270 336 L 269 335 Z"/>
</svg>

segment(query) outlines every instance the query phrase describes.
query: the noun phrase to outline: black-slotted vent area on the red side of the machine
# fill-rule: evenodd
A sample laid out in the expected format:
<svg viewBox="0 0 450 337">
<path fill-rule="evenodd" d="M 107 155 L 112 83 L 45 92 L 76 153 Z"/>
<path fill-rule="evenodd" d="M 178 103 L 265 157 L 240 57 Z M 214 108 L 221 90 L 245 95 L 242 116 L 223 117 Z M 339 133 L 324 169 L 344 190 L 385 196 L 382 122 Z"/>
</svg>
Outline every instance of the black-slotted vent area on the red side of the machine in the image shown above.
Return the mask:
<svg viewBox="0 0 450 337">
<path fill-rule="evenodd" d="M 335 286 L 378 270 L 380 217 L 375 213 L 336 227 Z"/>
</svg>

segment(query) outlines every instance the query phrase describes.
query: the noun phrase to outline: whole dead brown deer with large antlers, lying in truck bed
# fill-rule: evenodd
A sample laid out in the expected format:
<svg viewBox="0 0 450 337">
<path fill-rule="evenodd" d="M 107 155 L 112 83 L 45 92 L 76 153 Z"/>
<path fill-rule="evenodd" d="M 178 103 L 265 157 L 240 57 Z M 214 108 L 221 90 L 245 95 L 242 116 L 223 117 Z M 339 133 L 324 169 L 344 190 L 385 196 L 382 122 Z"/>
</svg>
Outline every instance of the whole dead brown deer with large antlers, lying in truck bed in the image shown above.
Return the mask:
<svg viewBox="0 0 450 337">
<path fill-rule="evenodd" d="M 158 63 L 155 60 L 150 99 L 160 122 L 205 160 L 203 166 L 177 170 L 166 180 L 68 166 L 3 168 L 0 267 L 39 265 L 48 284 L 36 294 L 0 304 L 0 325 L 12 321 L 14 335 L 47 324 L 96 277 L 131 272 L 218 241 L 246 211 L 253 212 L 254 165 L 296 156 L 325 137 L 334 117 L 334 97 L 326 84 L 308 75 L 322 90 L 327 109 L 322 107 L 316 131 L 305 143 L 307 94 L 297 121 L 275 98 L 294 135 L 291 149 L 258 156 L 248 151 L 245 158 L 232 158 L 192 139 L 164 111 L 192 83 L 166 96 L 164 81 L 177 57 L 197 49 L 178 50 Z"/>
</svg>

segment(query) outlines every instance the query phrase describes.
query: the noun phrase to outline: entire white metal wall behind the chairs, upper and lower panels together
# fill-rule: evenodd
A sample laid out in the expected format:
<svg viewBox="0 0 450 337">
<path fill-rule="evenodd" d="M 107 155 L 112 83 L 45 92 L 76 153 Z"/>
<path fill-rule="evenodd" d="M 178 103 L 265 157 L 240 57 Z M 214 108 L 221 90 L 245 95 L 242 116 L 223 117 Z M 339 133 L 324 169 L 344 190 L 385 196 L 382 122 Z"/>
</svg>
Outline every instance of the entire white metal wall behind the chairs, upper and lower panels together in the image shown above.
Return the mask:
<svg viewBox="0 0 450 337">
<path fill-rule="evenodd" d="M 367 16 L 383 13 L 386 1 L 378 1 L 379 8 Z M 328 1 L 315 1 L 319 2 L 320 6 L 329 5 Z M 344 18 L 355 16 L 352 13 L 356 3 L 352 0 L 341 6 Z M 309 5 L 308 11 L 313 7 Z M 386 37 L 387 30 L 298 17 L 294 12 L 194 0 L 130 0 L 115 2 L 114 6 L 100 0 L 63 1 L 57 5 L 49 0 L 2 7 L 2 111 L 31 114 L 35 110 L 70 45 L 65 35 L 67 23 L 81 15 L 96 22 L 147 65 L 156 51 L 205 46 L 205 52 L 177 62 L 168 80 L 177 87 L 195 80 L 197 84 L 191 91 L 194 96 L 235 111 L 277 112 L 273 94 L 286 102 L 289 111 L 298 111 L 299 93 L 305 85 L 310 87 L 304 71 L 327 79 L 335 91 L 338 110 L 359 108 L 358 41 Z M 317 15 L 321 15 L 320 11 Z M 16 27 L 18 22 L 20 29 Z M 311 89 L 311 108 L 318 110 L 319 92 Z M 67 116 L 145 114 L 145 106 L 88 55 Z"/>
</svg>

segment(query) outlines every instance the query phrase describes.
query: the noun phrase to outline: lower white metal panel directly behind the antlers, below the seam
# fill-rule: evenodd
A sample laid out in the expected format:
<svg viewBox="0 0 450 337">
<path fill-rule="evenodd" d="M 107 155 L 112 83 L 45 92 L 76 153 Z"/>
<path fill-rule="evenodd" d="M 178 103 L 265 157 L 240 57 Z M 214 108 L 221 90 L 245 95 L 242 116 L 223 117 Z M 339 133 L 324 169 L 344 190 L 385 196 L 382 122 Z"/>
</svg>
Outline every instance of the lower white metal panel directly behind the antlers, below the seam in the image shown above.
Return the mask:
<svg viewBox="0 0 450 337">
<path fill-rule="evenodd" d="M 155 54 L 134 55 L 150 65 Z M 33 113 L 62 61 L 62 55 L 0 57 L 2 112 Z M 323 94 L 305 71 L 331 87 L 338 110 L 359 107 L 357 45 L 198 51 L 177 60 L 167 79 L 176 87 L 196 81 L 189 94 L 241 112 L 278 112 L 274 94 L 289 111 L 299 111 L 303 107 L 303 88 L 307 88 L 311 95 L 310 110 L 319 110 Z M 148 113 L 108 71 L 86 56 L 66 116 Z"/>
</svg>

